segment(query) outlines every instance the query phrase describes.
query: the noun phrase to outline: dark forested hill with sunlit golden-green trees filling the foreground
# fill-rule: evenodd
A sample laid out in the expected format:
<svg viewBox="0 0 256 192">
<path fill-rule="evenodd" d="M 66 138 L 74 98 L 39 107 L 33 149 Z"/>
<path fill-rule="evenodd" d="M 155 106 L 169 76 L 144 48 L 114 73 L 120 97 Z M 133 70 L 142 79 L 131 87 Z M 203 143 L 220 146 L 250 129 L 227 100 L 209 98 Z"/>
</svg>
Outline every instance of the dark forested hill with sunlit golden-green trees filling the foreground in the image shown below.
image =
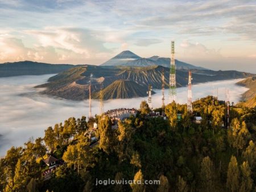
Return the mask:
<svg viewBox="0 0 256 192">
<path fill-rule="evenodd" d="M 48 127 L 43 138 L 7 151 L 0 191 L 255 191 L 256 109 L 230 106 L 230 124 L 226 110 L 224 101 L 209 96 L 193 102 L 193 114 L 186 105 L 166 105 L 167 118 L 150 115 L 142 102 L 115 128 L 106 115 L 69 118 Z M 95 122 L 92 145 L 86 133 Z M 43 159 L 49 155 L 59 166 L 46 179 Z M 109 179 L 142 184 L 96 185 Z"/>
</svg>

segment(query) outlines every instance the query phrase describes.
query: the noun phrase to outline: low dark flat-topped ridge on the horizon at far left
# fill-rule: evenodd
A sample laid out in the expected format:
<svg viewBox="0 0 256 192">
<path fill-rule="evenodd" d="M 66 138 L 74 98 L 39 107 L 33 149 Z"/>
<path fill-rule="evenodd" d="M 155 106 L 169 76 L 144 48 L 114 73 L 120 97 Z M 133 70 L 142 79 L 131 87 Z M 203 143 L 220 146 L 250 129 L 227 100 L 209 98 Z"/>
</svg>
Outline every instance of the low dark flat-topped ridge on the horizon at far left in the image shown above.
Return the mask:
<svg viewBox="0 0 256 192">
<path fill-rule="evenodd" d="M 33 61 L 6 62 L 0 64 L 0 77 L 54 74 L 75 66 L 76 65 L 47 64 Z"/>
</svg>

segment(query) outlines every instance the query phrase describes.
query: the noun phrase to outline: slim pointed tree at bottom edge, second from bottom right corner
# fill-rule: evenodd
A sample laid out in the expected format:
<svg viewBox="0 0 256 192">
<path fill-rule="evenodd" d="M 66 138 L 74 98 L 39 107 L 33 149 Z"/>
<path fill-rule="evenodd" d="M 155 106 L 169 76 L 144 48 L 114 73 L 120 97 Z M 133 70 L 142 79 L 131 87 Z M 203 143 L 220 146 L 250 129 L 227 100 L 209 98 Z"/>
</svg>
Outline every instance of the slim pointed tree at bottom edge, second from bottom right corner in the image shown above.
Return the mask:
<svg viewBox="0 0 256 192">
<path fill-rule="evenodd" d="M 237 165 L 237 158 L 232 156 L 230 158 L 229 166 L 228 166 L 228 176 L 226 179 L 226 187 L 228 191 L 236 192 L 240 188 L 240 173 Z"/>
</svg>

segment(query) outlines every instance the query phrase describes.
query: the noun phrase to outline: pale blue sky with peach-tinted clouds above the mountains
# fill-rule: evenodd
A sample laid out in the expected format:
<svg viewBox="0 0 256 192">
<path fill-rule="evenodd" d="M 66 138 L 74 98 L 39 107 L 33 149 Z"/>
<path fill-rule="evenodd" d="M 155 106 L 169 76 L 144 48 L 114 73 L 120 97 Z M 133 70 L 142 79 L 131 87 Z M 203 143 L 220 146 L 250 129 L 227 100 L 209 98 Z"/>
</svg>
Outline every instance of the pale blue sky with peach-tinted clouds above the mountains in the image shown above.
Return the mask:
<svg viewBox="0 0 256 192">
<path fill-rule="evenodd" d="M 124 50 L 256 73 L 256 1 L 0 0 L 0 62 L 101 64 Z"/>
</svg>

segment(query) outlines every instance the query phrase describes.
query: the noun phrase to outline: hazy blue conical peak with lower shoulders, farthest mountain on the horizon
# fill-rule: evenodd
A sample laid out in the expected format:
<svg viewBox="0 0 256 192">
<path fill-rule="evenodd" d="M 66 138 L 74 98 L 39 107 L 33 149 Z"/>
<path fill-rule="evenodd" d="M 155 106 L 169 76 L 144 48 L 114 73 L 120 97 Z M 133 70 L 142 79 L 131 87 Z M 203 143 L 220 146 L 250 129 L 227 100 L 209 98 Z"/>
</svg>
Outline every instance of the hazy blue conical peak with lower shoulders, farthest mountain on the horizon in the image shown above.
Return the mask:
<svg viewBox="0 0 256 192">
<path fill-rule="evenodd" d="M 148 58 L 142 58 L 131 51 L 123 51 L 119 53 L 117 56 L 114 56 L 112 59 L 104 62 L 101 66 L 117 66 L 117 65 L 125 65 L 125 66 L 150 66 L 150 65 L 161 65 L 167 68 L 170 68 L 170 58 L 152 56 Z M 186 62 L 182 62 L 179 60 L 175 60 L 176 69 L 205 69 L 201 66 L 195 66 L 191 64 L 187 64 Z"/>
</svg>

